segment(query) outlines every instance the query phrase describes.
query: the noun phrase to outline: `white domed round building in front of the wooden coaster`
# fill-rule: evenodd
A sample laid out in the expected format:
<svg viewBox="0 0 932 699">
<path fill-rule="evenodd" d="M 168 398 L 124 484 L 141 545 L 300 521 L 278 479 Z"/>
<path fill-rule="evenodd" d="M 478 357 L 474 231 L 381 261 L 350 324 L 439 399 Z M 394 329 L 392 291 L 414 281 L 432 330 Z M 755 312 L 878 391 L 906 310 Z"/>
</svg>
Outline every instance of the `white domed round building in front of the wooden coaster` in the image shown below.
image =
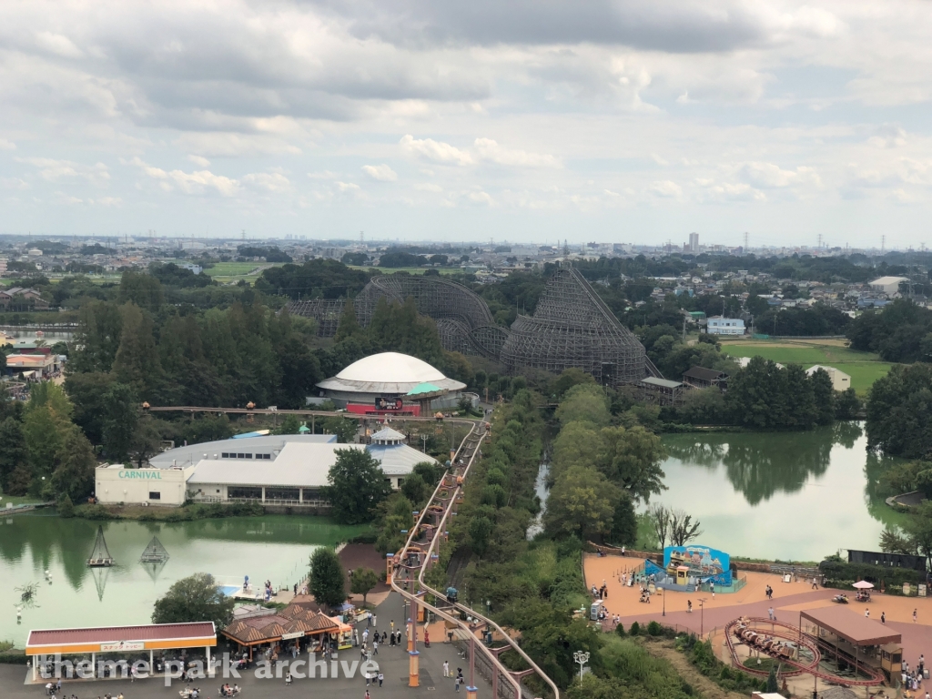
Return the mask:
<svg viewBox="0 0 932 699">
<path fill-rule="evenodd" d="M 349 364 L 336 377 L 321 381 L 317 387 L 321 399 L 352 412 L 363 412 L 354 410 L 354 405 L 364 406 L 365 412 L 397 412 L 403 404 L 423 404 L 427 398 L 432 408 L 452 407 L 459 403 L 466 384 L 445 377 L 439 369 L 417 357 L 382 352 Z"/>
</svg>

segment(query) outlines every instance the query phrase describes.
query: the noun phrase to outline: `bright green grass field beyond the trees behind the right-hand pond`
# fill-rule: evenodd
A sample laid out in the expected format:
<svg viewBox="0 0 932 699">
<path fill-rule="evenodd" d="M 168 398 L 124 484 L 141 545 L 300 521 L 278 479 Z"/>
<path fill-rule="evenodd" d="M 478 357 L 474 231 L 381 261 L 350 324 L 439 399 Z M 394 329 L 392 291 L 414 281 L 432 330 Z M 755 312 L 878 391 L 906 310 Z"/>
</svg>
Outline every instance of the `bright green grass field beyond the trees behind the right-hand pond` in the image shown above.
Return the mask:
<svg viewBox="0 0 932 699">
<path fill-rule="evenodd" d="M 832 341 L 737 340 L 723 342 L 721 350 L 733 357 L 763 357 L 781 364 L 802 364 L 806 369 L 813 364 L 834 366 L 851 376 L 852 388 L 862 395 L 874 381 L 886 376 L 892 366 L 881 362 L 876 354 L 858 352 Z"/>
</svg>

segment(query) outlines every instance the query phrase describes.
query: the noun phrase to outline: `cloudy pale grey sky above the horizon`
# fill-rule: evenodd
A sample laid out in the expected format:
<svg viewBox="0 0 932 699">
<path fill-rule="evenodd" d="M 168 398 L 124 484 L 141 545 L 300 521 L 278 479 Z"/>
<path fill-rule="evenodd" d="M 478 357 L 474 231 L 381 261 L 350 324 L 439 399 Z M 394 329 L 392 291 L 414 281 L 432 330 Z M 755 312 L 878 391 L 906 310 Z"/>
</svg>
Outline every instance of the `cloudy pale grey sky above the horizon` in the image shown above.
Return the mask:
<svg viewBox="0 0 932 699">
<path fill-rule="evenodd" d="M 932 6 L 5 0 L 0 233 L 919 247 Z"/>
</svg>

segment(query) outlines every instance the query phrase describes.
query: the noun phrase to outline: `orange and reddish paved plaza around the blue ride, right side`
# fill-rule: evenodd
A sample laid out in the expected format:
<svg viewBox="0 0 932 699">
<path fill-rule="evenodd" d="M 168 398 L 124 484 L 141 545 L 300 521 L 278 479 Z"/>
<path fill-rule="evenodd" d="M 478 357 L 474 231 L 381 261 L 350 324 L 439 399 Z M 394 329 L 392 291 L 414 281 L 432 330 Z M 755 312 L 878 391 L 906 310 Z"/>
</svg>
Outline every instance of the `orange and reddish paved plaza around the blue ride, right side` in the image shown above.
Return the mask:
<svg viewBox="0 0 932 699">
<path fill-rule="evenodd" d="M 645 624 L 651 621 L 689 630 L 694 633 L 709 632 L 721 628 L 733 619 L 745 616 L 766 617 L 767 610 L 774 608 L 776 618 L 789 624 L 800 623 L 800 611 L 817 607 L 835 606 L 831 598 L 840 590 L 812 589 L 812 582 L 784 583 L 779 575 L 741 571 L 747 575 L 747 585 L 730 595 L 709 593 L 686 593 L 664 591 L 652 596 L 651 604 L 638 601 L 637 585 L 623 587 L 618 582 L 618 571 L 637 568 L 643 560 L 626 556 L 584 555 L 583 570 L 586 587 L 608 585 L 609 596 L 605 600 L 609 614 L 620 614 L 624 628 L 634 622 Z M 774 588 L 774 599 L 768 601 L 764 594 L 767 585 Z M 922 653 L 932 658 L 932 599 L 929 597 L 888 596 L 874 593 L 868 604 L 853 601 L 854 590 L 849 591 L 852 601 L 848 609 L 852 614 L 863 614 L 870 609 L 870 618 L 880 621 L 881 612 L 886 614 L 886 625 L 903 635 L 903 656 L 910 665 L 916 665 Z M 704 599 L 705 610 L 700 610 L 699 600 Z M 686 611 L 687 600 L 692 600 L 692 613 Z M 664 615 L 664 608 L 666 614 Z M 918 621 L 912 623 L 912 610 L 917 610 Z"/>
</svg>

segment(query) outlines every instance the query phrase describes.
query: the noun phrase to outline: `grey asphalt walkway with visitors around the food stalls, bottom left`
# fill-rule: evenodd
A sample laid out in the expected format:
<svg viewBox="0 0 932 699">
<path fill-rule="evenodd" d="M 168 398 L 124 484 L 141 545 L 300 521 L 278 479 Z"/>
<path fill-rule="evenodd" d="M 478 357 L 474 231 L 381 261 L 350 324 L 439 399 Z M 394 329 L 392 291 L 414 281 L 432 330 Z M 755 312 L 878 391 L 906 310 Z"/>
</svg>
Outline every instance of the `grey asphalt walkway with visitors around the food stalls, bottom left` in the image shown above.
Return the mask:
<svg viewBox="0 0 932 699">
<path fill-rule="evenodd" d="M 391 593 L 387 599 L 378 605 L 377 620 L 379 631 L 389 630 L 389 624 L 393 619 L 397 628 L 398 624 L 404 622 L 404 603 L 401 596 L 397 593 Z M 362 632 L 365 624 L 361 624 Z M 408 655 L 406 646 L 401 648 L 389 648 L 379 646 L 378 654 L 374 660 L 379 664 L 379 669 L 385 676 L 385 682 L 382 687 L 369 687 L 372 699 L 411 699 L 411 697 L 432 697 L 433 699 L 442 699 L 442 697 L 461 696 L 465 699 L 466 688 L 460 688 L 459 694 L 455 692 L 453 680 L 443 677 L 443 663 L 448 660 L 455 670 L 457 666 L 462 666 L 463 675 L 469 678 L 469 665 L 466 661 L 459 659 L 456 650 L 447 643 L 440 642 L 441 638 L 431 635 L 431 648 L 425 649 L 419 644 L 420 651 L 420 687 L 412 689 L 408 687 Z M 223 651 L 218 648 L 218 651 Z M 307 656 L 304 656 L 307 658 Z M 339 660 L 351 663 L 358 661 L 360 653 L 357 649 L 340 651 Z M 254 670 L 241 673 L 240 679 L 203 679 L 195 680 L 192 686 L 197 686 L 202 691 L 201 696 L 204 699 L 217 699 L 217 692 L 220 685 L 225 681 L 232 684 L 237 682 L 242 688 L 240 699 L 278 699 L 278 697 L 298 697 L 308 696 L 308 692 L 328 692 L 328 695 L 334 697 L 347 697 L 348 699 L 363 699 L 366 691 L 365 679 L 360 671 L 351 679 L 343 678 L 342 671 L 340 678 L 305 678 L 295 679 L 292 687 L 286 687 L 283 679 L 259 679 L 254 677 Z M 23 680 L 26 677 L 26 668 L 22 665 L 0 665 L 0 697 L 3 699 L 22 699 L 24 697 L 45 696 L 44 687 L 31 685 L 25 686 Z M 477 687 L 479 688 L 480 697 L 488 697 L 491 693 L 491 687 L 478 675 L 476 676 Z M 176 699 L 178 692 L 183 688 L 183 684 L 177 680 L 173 681 L 171 687 L 165 687 L 162 678 L 149 678 L 130 682 L 129 679 L 112 679 L 106 681 L 92 680 L 74 680 L 62 683 L 62 694 L 59 695 L 70 697 L 75 694 L 78 699 L 95 699 L 103 696 L 105 692 L 117 696 L 123 693 L 125 699 Z"/>
</svg>

